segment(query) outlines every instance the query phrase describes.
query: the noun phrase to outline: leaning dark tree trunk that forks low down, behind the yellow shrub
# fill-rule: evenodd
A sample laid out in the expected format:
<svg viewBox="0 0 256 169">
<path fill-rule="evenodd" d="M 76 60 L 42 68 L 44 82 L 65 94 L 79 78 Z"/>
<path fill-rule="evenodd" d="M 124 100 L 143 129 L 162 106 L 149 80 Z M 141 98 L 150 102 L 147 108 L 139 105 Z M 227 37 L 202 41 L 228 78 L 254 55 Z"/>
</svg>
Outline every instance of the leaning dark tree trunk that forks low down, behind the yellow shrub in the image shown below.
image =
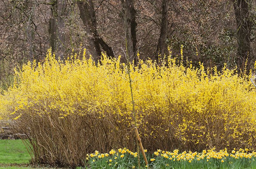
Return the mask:
<svg viewBox="0 0 256 169">
<path fill-rule="evenodd" d="M 83 24 L 86 27 L 86 32 L 88 35 L 90 50 L 93 54 L 94 61 L 97 63 L 100 59 L 101 49 L 100 45 L 108 57 L 113 57 L 113 50 L 108 44 L 99 36 L 97 31 L 97 18 L 95 16 L 94 5 L 91 0 L 89 1 L 78 1 L 77 2 L 80 17 L 83 21 Z"/>
</svg>

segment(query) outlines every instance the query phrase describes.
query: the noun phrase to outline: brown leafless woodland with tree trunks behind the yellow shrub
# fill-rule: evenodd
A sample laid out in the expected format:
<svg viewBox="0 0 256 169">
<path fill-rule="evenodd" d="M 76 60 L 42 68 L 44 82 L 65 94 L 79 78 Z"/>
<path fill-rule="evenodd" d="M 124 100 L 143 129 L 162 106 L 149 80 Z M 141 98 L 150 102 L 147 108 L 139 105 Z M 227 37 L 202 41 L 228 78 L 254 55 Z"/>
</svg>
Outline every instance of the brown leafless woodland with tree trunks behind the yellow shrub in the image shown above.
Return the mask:
<svg viewBox="0 0 256 169">
<path fill-rule="evenodd" d="M 227 63 L 244 70 L 256 55 L 255 0 L 1 0 L 0 84 L 12 83 L 17 65 L 44 61 L 49 48 L 61 60 L 86 48 L 130 61 L 164 61 L 167 46 L 205 67 Z M 127 43 L 126 43 L 127 41 Z M 181 58 L 179 58 L 181 59 Z"/>
</svg>

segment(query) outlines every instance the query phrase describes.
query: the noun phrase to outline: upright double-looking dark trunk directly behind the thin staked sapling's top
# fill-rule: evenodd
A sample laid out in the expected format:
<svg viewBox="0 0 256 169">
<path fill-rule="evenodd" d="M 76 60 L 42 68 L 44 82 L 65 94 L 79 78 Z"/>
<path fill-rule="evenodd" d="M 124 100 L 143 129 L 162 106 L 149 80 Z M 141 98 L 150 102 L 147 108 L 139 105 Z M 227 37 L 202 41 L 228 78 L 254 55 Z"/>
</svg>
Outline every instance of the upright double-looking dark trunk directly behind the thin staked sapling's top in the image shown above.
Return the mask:
<svg viewBox="0 0 256 169">
<path fill-rule="evenodd" d="M 137 45 L 137 37 L 136 37 L 136 10 L 134 9 L 133 0 L 121 0 L 123 7 L 123 15 L 122 18 L 125 24 L 125 38 L 127 41 L 128 47 L 128 60 L 132 62 L 134 60 L 135 64 L 137 63 L 137 55 L 136 55 L 136 45 Z"/>
</svg>

